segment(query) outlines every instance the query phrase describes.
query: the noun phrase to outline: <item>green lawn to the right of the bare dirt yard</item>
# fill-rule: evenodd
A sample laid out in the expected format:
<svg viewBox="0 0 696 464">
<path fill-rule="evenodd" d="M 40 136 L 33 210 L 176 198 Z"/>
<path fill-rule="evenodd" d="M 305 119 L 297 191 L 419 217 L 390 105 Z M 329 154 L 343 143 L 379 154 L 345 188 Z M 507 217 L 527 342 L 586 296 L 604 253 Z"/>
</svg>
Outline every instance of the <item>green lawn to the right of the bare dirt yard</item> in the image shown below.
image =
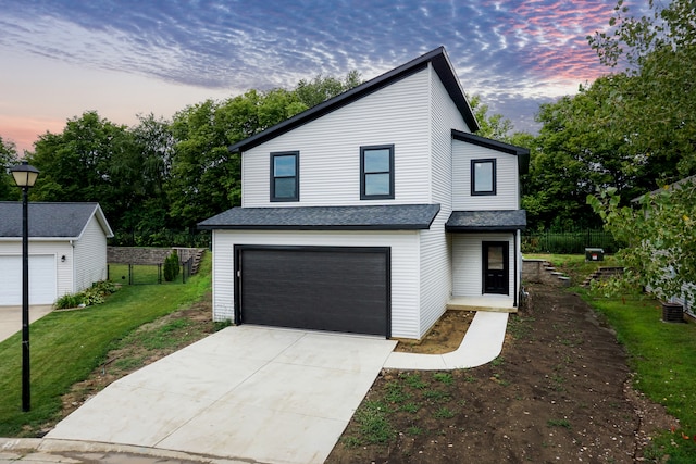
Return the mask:
<svg viewBox="0 0 696 464">
<path fill-rule="evenodd" d="M 596 266 L 617 265 L 611 259 L 585 263 L 580 255 L 535 258 L 545 258 L 561 271 L 576 275 L 575 283 Z M 662 322 L 660 303 L 645 294 L 606 298 L 580 287 L 571 290 L 581 294 L 617 331 L 635 373 L 634 387 L 663 404 L 680 421 L 681 429 L 666 430 L 655 440 L 652 457 L 669 454 L 670 463 L 696 462 L 696 324 Z"/>
</svg>

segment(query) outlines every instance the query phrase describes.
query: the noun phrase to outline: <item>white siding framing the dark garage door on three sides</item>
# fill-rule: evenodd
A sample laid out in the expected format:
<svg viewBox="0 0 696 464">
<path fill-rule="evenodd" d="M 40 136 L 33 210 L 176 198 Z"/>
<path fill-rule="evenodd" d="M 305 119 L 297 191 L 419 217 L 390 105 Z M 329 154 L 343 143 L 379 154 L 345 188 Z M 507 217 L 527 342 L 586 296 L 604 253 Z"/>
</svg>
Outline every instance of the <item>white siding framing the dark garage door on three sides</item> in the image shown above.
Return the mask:
<svg viewBox="0 0 696 464">
<path fill-rule="evenodd" d="M 389 247 L 391 337 L 419 338 L 418 231 L 213 231 L 213 319 L 234 318 L 234 246 Z"/>
</svg>

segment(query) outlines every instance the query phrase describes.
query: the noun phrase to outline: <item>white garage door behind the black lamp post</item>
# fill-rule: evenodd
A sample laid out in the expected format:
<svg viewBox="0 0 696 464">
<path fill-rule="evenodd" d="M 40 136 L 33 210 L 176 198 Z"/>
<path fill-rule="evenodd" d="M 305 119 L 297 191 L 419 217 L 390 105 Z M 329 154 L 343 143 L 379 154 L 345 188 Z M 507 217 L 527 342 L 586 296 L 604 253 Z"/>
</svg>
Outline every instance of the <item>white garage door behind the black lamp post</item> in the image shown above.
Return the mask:
<svg viewBox="0 0 696 464">
<path fill-rule="evenodd" d="M 29 255 L 29 304 L 53 304 L 55 256 Z M 0 305 L 22 304 L 22 256 L 0 256 Z"/>
</svg>

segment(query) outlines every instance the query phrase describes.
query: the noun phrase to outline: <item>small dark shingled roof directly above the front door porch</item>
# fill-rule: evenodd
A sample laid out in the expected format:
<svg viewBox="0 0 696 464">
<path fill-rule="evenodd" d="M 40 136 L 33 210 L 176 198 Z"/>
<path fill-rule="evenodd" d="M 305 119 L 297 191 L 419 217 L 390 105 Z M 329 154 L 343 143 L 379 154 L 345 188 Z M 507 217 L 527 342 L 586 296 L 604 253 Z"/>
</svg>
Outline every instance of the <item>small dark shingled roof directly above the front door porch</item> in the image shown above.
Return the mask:
<svg viewBox="0 0 696 464">
<path fill-rule="evenodd" d="M 445 223 L 447 231 L 504 231 L 522 230 L 526 227 L 526 211 L 452 211 Z"/>
</svg>

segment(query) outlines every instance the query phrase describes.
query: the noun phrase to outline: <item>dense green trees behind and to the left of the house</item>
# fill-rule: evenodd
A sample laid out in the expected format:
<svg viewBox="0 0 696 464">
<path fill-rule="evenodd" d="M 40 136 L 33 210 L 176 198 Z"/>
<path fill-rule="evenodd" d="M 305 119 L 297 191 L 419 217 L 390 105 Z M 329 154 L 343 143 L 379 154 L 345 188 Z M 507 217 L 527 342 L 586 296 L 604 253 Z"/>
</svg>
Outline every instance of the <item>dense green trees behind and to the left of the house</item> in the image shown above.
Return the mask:
<svg viewBox="0 0 696 464">
<path fill-rule="evenodd" d="M 171 121 L 140 115 L 134 127 L 87 111 L 62 133 L 41 135 L 27 153 L 41 172 L 32 199 L 98 201 L 117 240 L 140 236 L 137 244 L 164 244 L 163 231 L 195 230 L 203 218 L 239 205 L 241 163 L 227 147 L 360 83 L 355 71 L 344 79 L 316 76 L 294 90 L 206 100 Z M 14 145 L 0 139 L 2 174 L 16 162 Z M 16 198 L 12 179 L 1 176 L 0 200 Z"/>
</svg>

